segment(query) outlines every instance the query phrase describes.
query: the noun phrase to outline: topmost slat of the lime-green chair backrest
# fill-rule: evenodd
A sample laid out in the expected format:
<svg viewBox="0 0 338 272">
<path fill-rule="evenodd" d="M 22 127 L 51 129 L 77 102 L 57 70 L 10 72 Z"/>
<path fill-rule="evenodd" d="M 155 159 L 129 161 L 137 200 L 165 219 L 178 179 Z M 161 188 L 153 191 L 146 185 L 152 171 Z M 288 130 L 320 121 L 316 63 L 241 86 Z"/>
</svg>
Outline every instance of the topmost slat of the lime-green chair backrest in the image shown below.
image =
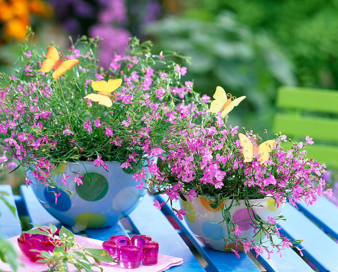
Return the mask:
<svg viewBox="0 0 338 272">
<path fill-rule="evenodd" d="M 282 86 L 276 105 L 283 109 L 299 109 L 338 114 L 338 91 Z"/>
</svg>

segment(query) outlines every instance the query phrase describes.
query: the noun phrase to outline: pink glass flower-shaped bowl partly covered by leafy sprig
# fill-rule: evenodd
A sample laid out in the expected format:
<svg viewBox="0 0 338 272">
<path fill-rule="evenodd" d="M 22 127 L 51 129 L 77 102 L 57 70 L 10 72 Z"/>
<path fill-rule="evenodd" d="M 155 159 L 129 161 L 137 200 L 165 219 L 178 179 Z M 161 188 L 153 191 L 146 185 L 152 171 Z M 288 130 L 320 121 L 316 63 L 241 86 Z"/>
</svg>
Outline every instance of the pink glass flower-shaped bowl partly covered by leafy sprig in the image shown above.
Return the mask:
<svg viewBox="0 0 338 272">
<path fill-rule="evenodd" d="M 57 229 L 53 234 L 58 235 L 60 229 Z M 57 243 L 57 242 L 56 242 Z M 33 262 L 41 259 L 38 257 L 40 252 L 31 251 L 31 249 L 53 251 L 55 244 L 49 240 L 49 237 L 43 234 L 22 233 L 18 238 L 18 245 L 22 253 Z M 62 245 L 61 243 L 57 244 Z"/>
</svg>

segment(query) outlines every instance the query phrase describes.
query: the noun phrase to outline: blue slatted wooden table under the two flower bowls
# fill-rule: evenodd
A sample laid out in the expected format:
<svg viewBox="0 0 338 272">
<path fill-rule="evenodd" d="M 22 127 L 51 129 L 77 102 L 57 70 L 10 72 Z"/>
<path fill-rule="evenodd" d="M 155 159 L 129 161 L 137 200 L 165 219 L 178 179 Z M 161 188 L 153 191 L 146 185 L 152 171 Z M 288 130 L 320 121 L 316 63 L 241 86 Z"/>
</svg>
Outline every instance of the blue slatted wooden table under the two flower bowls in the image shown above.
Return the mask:
<svg viewBox="0 0 338 272">
<path fill-rule="evenodd" d="M 18 208 L 14 216 L 0 201 L 0 234 L 2 237 L 8 238 L 22 232 L 17 219 L 18 213 L 27 215 L 30 222 L 36 224 L 51 223 L 61 226 L 61 223 L 42 207 L 30 188 L 22 186 L 21 196 L 13 196 L 9 185 L 0 185 L 0 191 L 5 191 L 8 194 L 6 196 L 8 202 L 16 204 Z M 201 244 L 186 227 L 184 221 L 180 221 L 168 206 L 163 207 L 162 210 L 155 209 L 152 206 L 154 198 L 163 201 L 160 196 L 146 195 L 140 205 L 121 221 L 122 223 L 119 222 L 113 227 L 100 229 L 66 227 L 74 233 L 82 232 L 98 240 L 107 240 L 113 234 L 150 235 L 160 244 L 161 254 L 183 258 L 182 265 L 169 269 L 173 272 L 260 271 L 243 252 L 240 253 L 239 259 L 235 254 L 215 251 Z M 299 203 L 298 207 L 299 209 L 296 209 L 286 203 L 283 214 L 288 220 L 279 223 L 282 227 L 281 232 L 291 239 L 303 239 L 300 247 L 305 248 L 304 255 L 320 271 L 338 272 L 338 244 L 332 239 L 332 237 L 338 239 L 338 208 L 325 198 L 321 198 L 313 206 L 306 207 L 304 203 Z M 270 258 L 267 254 L 263 254 L 258 257 L 257 265 L 267 271 L 313 271 L 294 250 L 285 249 L 282 254 L 282 258 L 278 253 L 271 254 Z"/>
</svg>

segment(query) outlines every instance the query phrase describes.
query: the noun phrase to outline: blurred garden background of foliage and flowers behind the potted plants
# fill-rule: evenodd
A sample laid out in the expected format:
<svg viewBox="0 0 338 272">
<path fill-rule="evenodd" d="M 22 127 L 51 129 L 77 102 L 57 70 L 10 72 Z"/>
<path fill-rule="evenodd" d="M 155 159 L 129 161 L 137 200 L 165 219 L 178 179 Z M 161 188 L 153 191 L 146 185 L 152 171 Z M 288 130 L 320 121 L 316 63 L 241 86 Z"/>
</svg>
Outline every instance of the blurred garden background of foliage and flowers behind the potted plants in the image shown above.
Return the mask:
<svg viewBox="0 0 338 272">
<path fill-rule="evenodd" d="M 338 89 L 337 19 L 337 0 L 0 0 L 0 70 L 13 69 L 25 24 L 44 50 L 67 50 L 67 36 L 103 38 L 105 67 L 137 35 L 155 52 L 190 56 L 184 78 L 201 94 L 219 85 L 246 95 L 227 124 L 272 137 L 279 86 Z"/>
</svg>

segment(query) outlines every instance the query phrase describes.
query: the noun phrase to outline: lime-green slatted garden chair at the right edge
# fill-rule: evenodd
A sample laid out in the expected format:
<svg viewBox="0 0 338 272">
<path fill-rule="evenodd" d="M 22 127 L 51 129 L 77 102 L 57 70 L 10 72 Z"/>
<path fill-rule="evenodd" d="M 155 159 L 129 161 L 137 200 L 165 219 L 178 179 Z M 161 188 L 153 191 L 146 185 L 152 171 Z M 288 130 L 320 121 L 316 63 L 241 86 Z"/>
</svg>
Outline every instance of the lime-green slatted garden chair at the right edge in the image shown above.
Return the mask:
<svg viewBox="0 0 338 272">
<path fill-rule="evenodd" d="M 282 132 L 293 141 L 315 142 L 306 145 L 308 155 L 328 168 L 338 168 L 338 91 L 282 86 L 277 90 L 278 112 L 273 132 Z M 291 143 L 285 143 L 287 148 Z"/>
</svg>

